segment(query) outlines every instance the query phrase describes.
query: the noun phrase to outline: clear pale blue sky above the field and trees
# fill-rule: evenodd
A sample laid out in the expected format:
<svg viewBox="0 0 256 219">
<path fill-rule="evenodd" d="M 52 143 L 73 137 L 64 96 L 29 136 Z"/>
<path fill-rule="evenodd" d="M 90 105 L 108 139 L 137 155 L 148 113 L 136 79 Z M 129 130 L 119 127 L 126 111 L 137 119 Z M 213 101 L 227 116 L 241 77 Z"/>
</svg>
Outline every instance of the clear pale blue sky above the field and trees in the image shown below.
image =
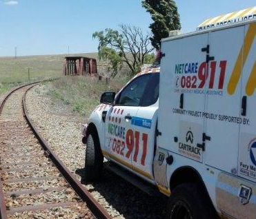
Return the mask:
<svg viewBox="0 0 256 219">
<path fill-rule="evenodd" d="M 256 0 L 176 0 L 183 32 Z M 97 52 L 92 33 L 130 24 L 149 32 L 141 0 L 0 0 L 0 56 Z"/>
</svg>

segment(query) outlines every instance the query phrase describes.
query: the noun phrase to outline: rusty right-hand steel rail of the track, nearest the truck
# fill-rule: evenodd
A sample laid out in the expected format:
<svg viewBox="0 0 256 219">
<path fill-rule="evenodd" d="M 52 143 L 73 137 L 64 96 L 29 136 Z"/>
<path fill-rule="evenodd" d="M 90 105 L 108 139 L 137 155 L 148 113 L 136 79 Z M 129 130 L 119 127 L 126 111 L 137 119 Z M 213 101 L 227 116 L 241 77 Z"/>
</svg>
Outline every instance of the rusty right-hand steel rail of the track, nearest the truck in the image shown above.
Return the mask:
<svg viewBox="0 0 256 219">
<path fill-rule="evenodd" d="M 32 87 L 34 87 L 34 86 L 32 86 Z M 59 160 L 57 154 L 55 154 L 55 152 L 53 152 L 53 150 L 48 145 L 48 143 L 46 143 L 46 140 L 44 140 L 42 138 L 42 136 L 39 134 L 37 128 L 32 123 L 30 117 L 28 116 L 28 111 L 26 108 L 26 94 L 32 87 L 30 87 L 30 88 L 28 88 L 28 90 L 26 90 L 26 92 L 23 96 L 23 100 L 22 100 L 23 114 L 26 118 L 26 121 L 28 122 L 28 125 L 32 129 L 32 132 L 37 137 L 37 140 L 39 140 L 39 143 L 41 144 L 43 149 L 48 153 L 49 158 L 55 164 L 57 169 L 59 169 L 62 176 L 71 185 L 72 189 L 74 189 L 74 191 L 81 198 L 81 200 L 83 200 L 83 202 L 86 202 L 86 205 L 88 206 L 90 211 L 92 211 L 93 215 L 99 219 L 111 219 L 112 217 L 110 216 L 108 211 L 106 211 L 106 209 L 104 209 L 104 207 L 99 205 L 99 202 L 97 202 L 97 200 L 95 200 L 95 198 L 93 198 L 93 196 L 90 194 L 90 192 L 85 187 L 83 187 L 83 185 L 79 182 L 79 180 L 77 180 L 75 175 L 70 172 L 70 170 L 66 167 L 66 165 L 64 165 L 62 163 L 62 161 Z"/>
</svg>

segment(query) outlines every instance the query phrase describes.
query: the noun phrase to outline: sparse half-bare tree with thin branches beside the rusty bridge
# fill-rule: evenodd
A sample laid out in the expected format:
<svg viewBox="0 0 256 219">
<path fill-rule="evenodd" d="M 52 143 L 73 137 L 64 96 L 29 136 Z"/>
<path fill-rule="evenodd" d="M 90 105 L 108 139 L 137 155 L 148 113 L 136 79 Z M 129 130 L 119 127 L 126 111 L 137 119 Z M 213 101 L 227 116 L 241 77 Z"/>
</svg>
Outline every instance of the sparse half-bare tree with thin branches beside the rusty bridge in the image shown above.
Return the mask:
<svg viewBox="0 0 256 219">
<path fill-rule="evenodd" d="M 130 25 L 119 25 L 119 30 L 106 29 L 92 34 L 99 40 L 99 59 L 109 62 L 109 70 L 115 77 L 124 63 L 130 68 L 131 74 L 136 74 L 141 65 L 152 61 L 150 45 L 151 34 L 144 34 L 140 28 Z"/>
</svg>

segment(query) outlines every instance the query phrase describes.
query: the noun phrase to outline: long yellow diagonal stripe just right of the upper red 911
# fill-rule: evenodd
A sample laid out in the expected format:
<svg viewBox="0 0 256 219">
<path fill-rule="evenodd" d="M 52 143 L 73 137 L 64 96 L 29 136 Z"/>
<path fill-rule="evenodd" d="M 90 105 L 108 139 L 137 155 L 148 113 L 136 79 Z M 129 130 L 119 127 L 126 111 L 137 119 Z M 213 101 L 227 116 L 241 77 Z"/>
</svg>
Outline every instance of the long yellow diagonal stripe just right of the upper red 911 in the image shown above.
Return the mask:
<svg viewBox="0 0 256 219">
<path fill-rule="evenodd" d="M 253 40 L 255 39 L 255 34 L 256 23 L 252 23 L 249 25 L 246 37 L 244 39 L 244 45 L 239 52 L 234 70 L 230 76 L 230 81 L 228 82 L 228 94 L 230 95 L 235 93 L 235 89 L 237 88 L 238 81 L 242 74 L 242 68 L 244 67 L 244 63 L 246 62 L 247 56 L 250 52 Z"/>
</svg>

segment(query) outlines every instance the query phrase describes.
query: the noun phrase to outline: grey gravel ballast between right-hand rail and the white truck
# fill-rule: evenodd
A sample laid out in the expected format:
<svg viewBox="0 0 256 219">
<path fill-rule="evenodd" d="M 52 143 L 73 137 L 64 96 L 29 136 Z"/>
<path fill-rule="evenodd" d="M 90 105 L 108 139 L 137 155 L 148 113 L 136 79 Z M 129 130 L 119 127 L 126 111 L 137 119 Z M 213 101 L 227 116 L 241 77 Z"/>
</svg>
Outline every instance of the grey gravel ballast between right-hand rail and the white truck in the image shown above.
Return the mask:
<svg viewBox="0 0 256 219">
<path fill-rule="evenodd" d="M 87 118 L 52 99 L 48 87 L 50 83 L 37 85 L 28 92 L 29 116 L 54 152 L 81 180 L 86 147 L 81 143 L 81 125 Z M 166 199 L 148 196 L 107 169 L 104 169 L 101 182 L 85 186 L 113 218 L 164 218 Z"/>
</svg>

